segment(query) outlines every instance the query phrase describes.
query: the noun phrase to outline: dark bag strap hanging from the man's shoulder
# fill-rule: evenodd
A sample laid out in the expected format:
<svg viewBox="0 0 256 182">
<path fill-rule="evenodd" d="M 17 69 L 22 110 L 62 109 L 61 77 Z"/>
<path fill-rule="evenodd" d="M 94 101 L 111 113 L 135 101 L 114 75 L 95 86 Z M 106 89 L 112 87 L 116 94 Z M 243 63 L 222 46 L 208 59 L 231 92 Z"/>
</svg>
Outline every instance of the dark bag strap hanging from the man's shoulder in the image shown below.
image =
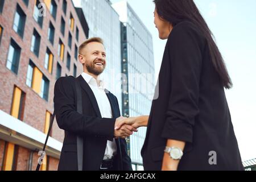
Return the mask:
<svg viewBox="0 0 256 182">
<path fill-rule="evenodd" d="M 77 104 L 77 112 L 82 114 L 82 93 L 81 93 L 81 85 L 79 83 L 78 78 L 76 78 L 76 96 L 77 96 L 77 100 L 76 100 L 76 104 Z M 46 150 L 46 144 L 48 142 L 48 138 L 49 138 L 49 134 L 51 133 L 51 129 L 52 129 L 52 124 L 55 118 L 55 111 L 53 111 L 52 117 L 51 117 L 51 122 L 49 125 L 49 130 L 47 133 L 47 137 L 46 137 L 46 142 L 44 142 L 44 147 L 43 147 L 43 152 L 41 154 L 41 160 L 38 163 L 38 166 L 36 167 L 36 171 L 39 171 L 40 166 L 43 162 L 43 158 L 45 156 L 45 150 Z M 83 151 L 84 151 L 84 139 L 82 137 L 78 137 L 77 136 L 77 164 L 78 164 L 78 170 L 82 171 L 82 157 L 83 157 Z"/>
</svg>

